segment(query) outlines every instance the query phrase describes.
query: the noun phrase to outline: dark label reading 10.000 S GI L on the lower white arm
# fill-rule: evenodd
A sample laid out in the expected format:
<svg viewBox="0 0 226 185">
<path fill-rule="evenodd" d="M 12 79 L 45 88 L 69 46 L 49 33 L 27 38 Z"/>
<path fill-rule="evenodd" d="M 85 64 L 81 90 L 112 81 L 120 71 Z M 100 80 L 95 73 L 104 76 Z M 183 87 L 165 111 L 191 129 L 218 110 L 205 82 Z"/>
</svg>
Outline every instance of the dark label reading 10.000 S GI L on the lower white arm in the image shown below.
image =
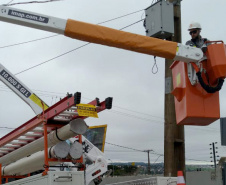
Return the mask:
<svg viewBox="0 0 226 185">
<path fill-rule="evenodd" d="M 21 85 L 15 78 L 13 78 L 7 71 L 4 69 L 0 72 L 0 75 L 8 81 L 12 86 L 15 87 L 23 96 L 28 98 L 31 96 L 31 92 L 29 92 L 23 85 Z"/>
</svg>

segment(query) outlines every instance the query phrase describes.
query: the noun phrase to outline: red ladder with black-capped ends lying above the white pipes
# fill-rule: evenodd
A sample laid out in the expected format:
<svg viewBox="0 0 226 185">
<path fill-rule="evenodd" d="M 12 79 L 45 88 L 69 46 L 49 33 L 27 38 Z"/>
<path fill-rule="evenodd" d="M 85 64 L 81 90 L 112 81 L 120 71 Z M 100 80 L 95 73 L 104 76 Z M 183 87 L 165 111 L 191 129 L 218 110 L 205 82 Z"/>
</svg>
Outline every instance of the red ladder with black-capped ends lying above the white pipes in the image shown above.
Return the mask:
<svg viewBox="0 0 226 185">
<path fill-rule="evenodd" d="M 14 129 L 0 139 L 0 159 L 1 157 L 21 148 L 29 143 L 44 136 L 44 123 L 47 126 L 47 134 L 56 128 L 67 125 L 74 119 L 86 119 L 87 117 L 79 116 L 77 105 L 81 101 L 81 93 L 76 92 L 74 95 L 68 94 L 59 102 L 44 110 L 43 113 L 33 117 L 26 123 Z M 96 107 L 97 113 L 111 109 L 112 98 L 108 97 L 105 101 L 100 102 L 98 98 L 88 104 Z"/>
</svg>

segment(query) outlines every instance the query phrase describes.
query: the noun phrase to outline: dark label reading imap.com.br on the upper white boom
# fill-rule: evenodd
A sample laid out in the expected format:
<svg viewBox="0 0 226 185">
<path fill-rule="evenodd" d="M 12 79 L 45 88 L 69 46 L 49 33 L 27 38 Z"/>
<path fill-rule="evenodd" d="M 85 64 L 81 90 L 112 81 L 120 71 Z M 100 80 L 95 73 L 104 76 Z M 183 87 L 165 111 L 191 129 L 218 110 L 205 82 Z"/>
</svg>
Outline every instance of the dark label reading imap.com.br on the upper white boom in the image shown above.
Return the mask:
<svg viewBox="0 0 226 185">
<path fill-rule="evenodd" d="M 34 15 L 34 14 L 29 14 L 29 13 L 25 13 L 25 12 L 19 12 L 16 10 L 10 10 L 8 12 L 8 15 L 14 16 L 14 17 L 19 17 L 22 19 L 28 19 L 31 21 L 37 21 L 37 22 L 41 22 L 41 23 L 48 23 L 49 22 L 49 18 L 47 17 L 42 17 L 39 15 Z"/>
</svg>

